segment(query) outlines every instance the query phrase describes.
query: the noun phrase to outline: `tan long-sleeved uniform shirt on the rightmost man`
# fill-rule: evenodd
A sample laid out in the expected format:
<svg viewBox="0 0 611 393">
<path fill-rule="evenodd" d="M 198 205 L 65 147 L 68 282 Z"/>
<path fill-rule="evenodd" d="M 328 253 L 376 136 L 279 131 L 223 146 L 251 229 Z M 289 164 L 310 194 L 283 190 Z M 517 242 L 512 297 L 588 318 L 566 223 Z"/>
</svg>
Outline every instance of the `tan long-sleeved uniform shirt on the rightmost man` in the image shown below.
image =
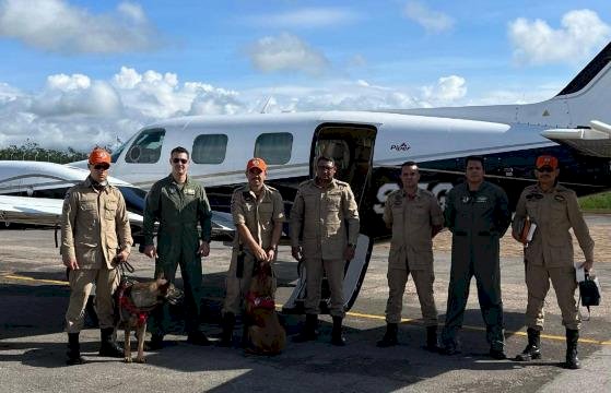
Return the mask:
<svg viewBox="0 0 611 393">
<path fill-rule="evenodd" d="M 532 241 L 525 249 L 525 259 L 548 267 L 573 266 L 573 242 L 569 228 L 587 260 L 594 259 L 594 240 L 573 190 L 557 184 L 549 192 L 538 184 L 524 189 L 514 216 L 514 233 L 529 217 L 537 224 Z"/>
</svg>

